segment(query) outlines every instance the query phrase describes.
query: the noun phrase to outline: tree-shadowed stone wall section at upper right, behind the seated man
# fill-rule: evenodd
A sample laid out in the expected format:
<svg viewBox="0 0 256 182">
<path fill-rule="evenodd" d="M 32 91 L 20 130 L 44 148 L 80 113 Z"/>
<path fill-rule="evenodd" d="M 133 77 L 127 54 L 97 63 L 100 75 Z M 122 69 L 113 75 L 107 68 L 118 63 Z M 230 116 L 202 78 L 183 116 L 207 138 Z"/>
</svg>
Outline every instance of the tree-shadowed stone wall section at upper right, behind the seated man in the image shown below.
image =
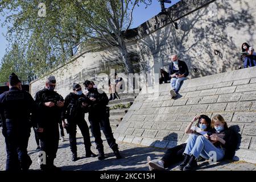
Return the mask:
<svg viewBox="0 0 256 182">
<path fill-rule="evenodd" d="M 169 12 L 179 30 L 167 24 L 164 15 L 138 28 L 143 70 L 167 71 L 168 56 L 177 53 L 188 64 L 191 78 L 232 71 L 242 66 L 242 43 L 256 44 L 256 1 L 180 1 Z"/>
</svg>

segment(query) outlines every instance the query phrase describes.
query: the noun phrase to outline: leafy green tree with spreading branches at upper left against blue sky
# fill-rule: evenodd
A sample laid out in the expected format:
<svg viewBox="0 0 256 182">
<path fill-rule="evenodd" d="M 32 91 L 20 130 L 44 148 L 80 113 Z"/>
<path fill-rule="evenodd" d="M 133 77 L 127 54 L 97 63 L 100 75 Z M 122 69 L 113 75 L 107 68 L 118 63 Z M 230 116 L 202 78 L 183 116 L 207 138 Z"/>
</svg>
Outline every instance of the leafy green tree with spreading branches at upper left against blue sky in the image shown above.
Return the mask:
<svg viewBox="0 0 256 182">
<path fill-rule="evenodd" d="M 46 16 L 40 16 L 44 7 L 39 3 L 44 3 Z M 29 68 L 23 73 L 40 76 L 67 62 L 73 56 L 73 47 L 83 43 L 94 48 L 117 47 L 126 71 L 131 73 L 123 35 L 139 3 L 150 5 L 151 0 L 2 0 L 0 13 L 6 16 L 2 24 L 7 26 L 6 39 L 22 50 L 23 58 L 15 63 L 14 47 L 9 46 L 12 48 L 3 57 L 1 71 L 3 67 L 5 72 Z"/>
</svg>

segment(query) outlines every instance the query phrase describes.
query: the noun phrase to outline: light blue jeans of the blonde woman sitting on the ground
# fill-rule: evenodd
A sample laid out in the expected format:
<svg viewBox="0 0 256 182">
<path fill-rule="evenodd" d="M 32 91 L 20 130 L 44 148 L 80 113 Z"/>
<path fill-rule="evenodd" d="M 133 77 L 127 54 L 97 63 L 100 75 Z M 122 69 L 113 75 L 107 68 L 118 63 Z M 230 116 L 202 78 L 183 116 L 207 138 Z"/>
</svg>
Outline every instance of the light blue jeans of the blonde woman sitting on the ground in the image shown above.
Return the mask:
<svg viewBox="0 0 256 182">
<path fill-rule="evenodd" d="M 222 148 L 215 147 L 207 138 L 203 135 L 191 134 L 188 138 L 188 143 L 185 148 L 184 154 L 193 155 L 197 158 L 201 156 L 204 159 L 209 159 L 211 155 L 210 151 L 216 152 L 216 160 L 224 158 L 224 150 Z"/>
</svg>

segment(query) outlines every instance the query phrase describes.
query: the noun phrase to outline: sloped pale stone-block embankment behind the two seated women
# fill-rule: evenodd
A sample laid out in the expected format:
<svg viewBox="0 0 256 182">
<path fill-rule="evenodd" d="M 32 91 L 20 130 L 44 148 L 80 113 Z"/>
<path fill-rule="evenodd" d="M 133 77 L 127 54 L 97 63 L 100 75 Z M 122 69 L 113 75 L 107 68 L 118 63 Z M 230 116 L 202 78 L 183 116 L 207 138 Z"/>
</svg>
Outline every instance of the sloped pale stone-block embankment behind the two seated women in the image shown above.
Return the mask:
<svg viewBox="0 0 256 182">
<path fill-rule="evenodd" d="M 256 67 L 184 81 L 171 98 L 170 84 L 146 93 L 143 88 L 115 130 L 117 140 L 170 148 L 183 143 L 195 115 L 221 114 L 241 134 L 237 159 L 256 163 Z"/>
</svg>

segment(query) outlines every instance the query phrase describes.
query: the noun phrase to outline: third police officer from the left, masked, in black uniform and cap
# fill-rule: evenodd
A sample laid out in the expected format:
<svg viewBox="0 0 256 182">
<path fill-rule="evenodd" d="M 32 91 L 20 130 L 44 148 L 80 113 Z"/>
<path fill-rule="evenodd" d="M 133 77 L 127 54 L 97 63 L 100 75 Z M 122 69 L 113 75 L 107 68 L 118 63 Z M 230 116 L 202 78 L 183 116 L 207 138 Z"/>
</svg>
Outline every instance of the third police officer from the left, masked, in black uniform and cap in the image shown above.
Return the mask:
<svg viewBox="0 0 256 182">
<path fill-rule="evenodd" d="M 79 127 L 84 137 L 84 146 L 85 146 L 85 157 L 95 158 L 96 155 L 90 150 L 90 133 L 89 127 L 84 119 L 85 107 L 83 100 L 86 99 L 86 96 L 82 93 L 81 85 L 74 83 L 73 92 L 69 93 L 65 98 L 64 109 L 63 109 L 63 125 L 66 126 L 69 133 L 69 146 L 72 152 L 72 160 L 77 160 L 77 147 L 76 147 L 76 126 Z M 65 123 L 67 119 L 67 123 Z"/>
</svg>

